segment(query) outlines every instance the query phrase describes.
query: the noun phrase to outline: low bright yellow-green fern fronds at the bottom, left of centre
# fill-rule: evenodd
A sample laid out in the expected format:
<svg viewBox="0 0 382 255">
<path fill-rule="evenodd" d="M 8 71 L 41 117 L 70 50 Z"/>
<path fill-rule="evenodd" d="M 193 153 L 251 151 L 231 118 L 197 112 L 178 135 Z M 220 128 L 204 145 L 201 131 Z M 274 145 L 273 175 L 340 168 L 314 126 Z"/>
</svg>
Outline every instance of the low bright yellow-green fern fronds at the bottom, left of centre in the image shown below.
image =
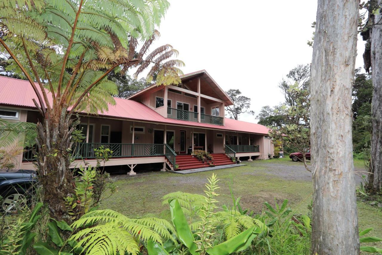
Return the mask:
<svg viewBox="0 0 382 255">
<path fill-rule="evenodd" d="M 82 228 L 89 225 L 95 226 Z M 77 247 L 83 246 L 86 254 L 138 254 L 140 240 L 160 244 L 163 239 L 174 240 L 174 228 L 164 219 L 130 219 L 109 209 L 84 214 L 71 227 L 78 232 L 69 240 L 78 240 Z"/>
</svg>

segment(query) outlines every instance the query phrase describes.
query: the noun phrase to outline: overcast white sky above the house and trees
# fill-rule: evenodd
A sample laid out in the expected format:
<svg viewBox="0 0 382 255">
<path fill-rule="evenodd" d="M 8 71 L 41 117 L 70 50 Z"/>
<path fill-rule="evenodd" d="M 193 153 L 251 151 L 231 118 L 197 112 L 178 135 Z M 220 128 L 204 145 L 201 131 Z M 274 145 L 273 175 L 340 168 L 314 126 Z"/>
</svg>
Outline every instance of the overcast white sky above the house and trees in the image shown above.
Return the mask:
<svg viewBox="0 0 382 255">
<path fill-rule="evenodd" d="M 262 106 L 278 105 L 277 87 L 289 70 L 311 63 L 316 0 L 219 1 L 169 0 L 160 39 L 151 50 L 171 44 L 186 64 L 185 74 L 206 69 L 223 90 L 240 89 L 251 98 L 255 116 Z M 356 67 L 363 66 L 364 43 L 358 40 Z M 255 116 L 239 119 L 257 123 Z"/>
</svg>

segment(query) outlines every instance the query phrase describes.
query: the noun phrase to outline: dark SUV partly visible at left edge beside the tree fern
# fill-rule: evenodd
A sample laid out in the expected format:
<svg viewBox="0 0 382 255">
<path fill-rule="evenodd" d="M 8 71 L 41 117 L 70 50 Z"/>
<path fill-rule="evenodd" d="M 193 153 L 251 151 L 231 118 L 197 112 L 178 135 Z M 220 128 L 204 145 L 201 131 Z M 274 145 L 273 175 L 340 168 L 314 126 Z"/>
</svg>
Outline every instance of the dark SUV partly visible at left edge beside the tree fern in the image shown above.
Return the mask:
<svg viewBox="0 0 382 255">
<path fill-rule="evenodd" d="M 0 211 L 14 212 L 26 205 L 35 183 L 36 171 L 0 169 Z"/>
</svg>

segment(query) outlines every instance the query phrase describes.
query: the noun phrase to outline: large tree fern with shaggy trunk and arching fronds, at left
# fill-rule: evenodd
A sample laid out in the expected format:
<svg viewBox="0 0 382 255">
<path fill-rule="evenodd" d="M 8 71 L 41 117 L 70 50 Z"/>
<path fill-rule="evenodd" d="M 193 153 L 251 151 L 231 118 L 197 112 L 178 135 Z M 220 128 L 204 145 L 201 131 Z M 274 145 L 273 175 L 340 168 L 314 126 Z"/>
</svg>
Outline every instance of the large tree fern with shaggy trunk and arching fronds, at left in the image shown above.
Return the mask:
<svg viewBox="0 0 382 255">
<path fill-rule="evenodd" d="M 0 51 L 12 72 L 28 79 L 43 117 L 37 123 L 37 168 L 52 218 L 71 221 L 65 204 L 74 187 L 71 115 L 115 104 L 117 86 L 107 75 L 136 67 L 137 76 L 151 67 L 149 81 L 157 74 L 158 84 L 180 83 L 177 67 L 183 62 L 165 62 L 178 53 L 172 46 L 148 53 L 168 6 L 166 0 L 2 1 Z"/>
</svg>

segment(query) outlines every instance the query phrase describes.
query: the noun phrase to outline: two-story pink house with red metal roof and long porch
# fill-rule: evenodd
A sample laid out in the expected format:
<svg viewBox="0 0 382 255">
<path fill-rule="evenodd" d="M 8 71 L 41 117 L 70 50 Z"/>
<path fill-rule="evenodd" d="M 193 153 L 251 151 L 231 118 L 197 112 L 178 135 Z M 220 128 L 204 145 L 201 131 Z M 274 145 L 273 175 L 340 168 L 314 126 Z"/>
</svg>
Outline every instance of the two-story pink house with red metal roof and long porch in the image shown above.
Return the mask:
<svg viewBox="0 0 382 255">
<path fill-rule="evenodd" d="M 211 153 L 215 165 L 274 155 L 267 127 L 224 117 L 233 102 L 205 70 L 181 80 L 115 98 L 116 105 L 97 115 L 79 113 L 86 141 L 73 148 L 77 160 L 71 167 L 81 166 L 82 159 L 95 165 L 94 149 L 101 145 L 113 150 L 106 165 L 126 165 L 130 174 L 142 163 L 162 163 L 163 171 L 208 167 L 191 155 L 194 150 Z M 41 116 L 33 98 L 28 81 L 0 77 L 0 118 L 37 123 Z M 34 169 L 33 150 L 20 155 L 18 165 Z"/>
</svg>

